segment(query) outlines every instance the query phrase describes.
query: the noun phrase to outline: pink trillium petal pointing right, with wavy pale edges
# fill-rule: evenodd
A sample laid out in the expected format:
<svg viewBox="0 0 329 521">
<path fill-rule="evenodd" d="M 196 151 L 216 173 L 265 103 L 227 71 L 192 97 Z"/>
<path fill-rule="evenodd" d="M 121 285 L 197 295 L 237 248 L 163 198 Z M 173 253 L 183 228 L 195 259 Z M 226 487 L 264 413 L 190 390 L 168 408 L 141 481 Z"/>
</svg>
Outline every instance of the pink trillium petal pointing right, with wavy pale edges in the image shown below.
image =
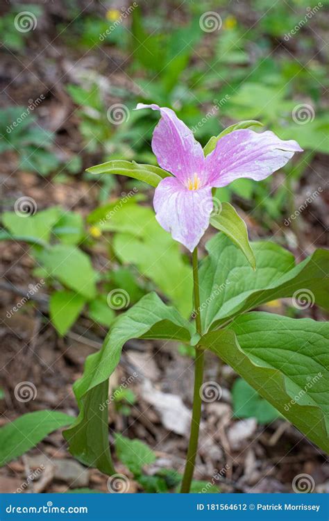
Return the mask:
<svg viewBox="0 0 329 521">
<path fill-rule="evenodd" d="M 205 158 L 208 183 L 221 187 L 240 177 L 262 181 L 283 167 L 295 152 L 301 151 L 296 141 L 280 140 L 271 131 L 233 131 L 224 135 Z"/>
</svg>

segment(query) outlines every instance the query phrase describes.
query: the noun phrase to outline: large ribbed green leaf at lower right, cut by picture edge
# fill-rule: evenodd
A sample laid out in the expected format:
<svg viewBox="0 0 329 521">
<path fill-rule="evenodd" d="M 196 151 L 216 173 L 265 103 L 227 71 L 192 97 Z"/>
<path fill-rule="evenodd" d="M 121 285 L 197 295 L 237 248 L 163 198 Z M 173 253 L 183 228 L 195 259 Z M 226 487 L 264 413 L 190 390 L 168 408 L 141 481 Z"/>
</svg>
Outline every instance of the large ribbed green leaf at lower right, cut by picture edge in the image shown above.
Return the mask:
<svg viewBox="0 0 329 521">
<path fill-rule="evenodd" d="M 230 333 L 231 341 L 223 342 Z M 328 322 L 254 312 L 237 317 L 230 330 L 206 333 L 199 343 L 328 450 L 328 340 Z"/>
</svg>

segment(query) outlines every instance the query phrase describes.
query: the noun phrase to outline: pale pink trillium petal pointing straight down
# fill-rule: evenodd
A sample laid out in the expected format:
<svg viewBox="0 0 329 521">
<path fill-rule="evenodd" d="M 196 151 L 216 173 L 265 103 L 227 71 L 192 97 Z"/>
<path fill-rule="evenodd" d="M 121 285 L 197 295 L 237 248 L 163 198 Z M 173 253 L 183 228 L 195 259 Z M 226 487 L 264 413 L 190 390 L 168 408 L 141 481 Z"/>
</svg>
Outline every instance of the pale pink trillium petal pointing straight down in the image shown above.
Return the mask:
<svg viewBox="0 0 329 521">
<path fill-rule="evenodd" d="M 162 228 L 193 251 L 209 226 L 211 188 L 187 190 L 178 179 L 166 177 L 155 188 L 153 205 Z"/>
</svg>

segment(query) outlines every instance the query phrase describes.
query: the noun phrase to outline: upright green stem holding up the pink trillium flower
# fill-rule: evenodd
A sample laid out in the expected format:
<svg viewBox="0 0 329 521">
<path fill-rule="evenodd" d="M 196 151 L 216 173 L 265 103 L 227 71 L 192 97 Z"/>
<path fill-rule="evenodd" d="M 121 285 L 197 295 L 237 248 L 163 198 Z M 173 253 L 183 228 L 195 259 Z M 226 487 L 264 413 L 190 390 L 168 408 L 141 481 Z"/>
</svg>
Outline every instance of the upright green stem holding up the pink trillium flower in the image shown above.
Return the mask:
<svg viewBox="0 0 329 521">
<path fill-rule="evenodd" d="M 194 249 L 192 254 L 193 265 L 193 286 L 194 286 L 194 314 L 196 319 L 196 331 L 202 335 L 201 316 L 200 316 L 200 291 L 199 291 L 199 272 L 198 272 L 198 249 Z M 189 493 L 191 481 L 194 472 L 194 463 L 196 452 L 198 450 L 199 428 L 201 419 L 201 392 L 200 388 L 203 383 L 203 349 L 196 346 L 196 357 L 194 361 L 194 394 L 192 408 L 191 432 L 189 434 L 189 448 L 187 450 L 187 458 L 185 471 L 182 480 L 180 493 Z"/>
</svg>

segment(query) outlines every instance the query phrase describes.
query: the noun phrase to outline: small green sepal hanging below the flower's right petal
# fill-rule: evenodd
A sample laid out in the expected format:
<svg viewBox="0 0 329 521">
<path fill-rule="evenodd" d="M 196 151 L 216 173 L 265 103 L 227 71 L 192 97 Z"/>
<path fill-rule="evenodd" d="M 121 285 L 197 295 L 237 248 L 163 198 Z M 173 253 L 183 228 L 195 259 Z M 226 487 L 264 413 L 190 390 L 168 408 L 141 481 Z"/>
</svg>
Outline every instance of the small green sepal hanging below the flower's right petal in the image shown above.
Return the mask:
<svg viewBox="0 0 329 521">
<path fill-rule="evenodd" d="M 248 263 L 255 270 L 256 261 L 253 250 L 248 241 L 248 231 L 244 220 L 238 215 L 230 203 L 222 203 L 219 214 L 210 218 L 210 224 L 219 231 L 223 231 L 235 245 L 241 249 Z"/>
</svg>

